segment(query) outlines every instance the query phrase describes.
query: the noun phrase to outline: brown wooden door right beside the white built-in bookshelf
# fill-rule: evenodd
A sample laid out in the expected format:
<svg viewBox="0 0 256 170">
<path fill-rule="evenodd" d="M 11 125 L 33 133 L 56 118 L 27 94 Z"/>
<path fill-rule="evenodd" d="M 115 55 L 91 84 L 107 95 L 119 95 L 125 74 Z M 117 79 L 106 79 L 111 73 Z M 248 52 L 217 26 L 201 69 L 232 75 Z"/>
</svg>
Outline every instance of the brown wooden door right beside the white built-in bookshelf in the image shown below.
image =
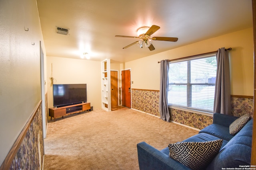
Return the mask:
<svg viewBox="0 0 256 170">
<path fill-rule="evenodd" d="M 118 71 L 110 71 L 111 110 L 118 107 Z"/>
</svg>

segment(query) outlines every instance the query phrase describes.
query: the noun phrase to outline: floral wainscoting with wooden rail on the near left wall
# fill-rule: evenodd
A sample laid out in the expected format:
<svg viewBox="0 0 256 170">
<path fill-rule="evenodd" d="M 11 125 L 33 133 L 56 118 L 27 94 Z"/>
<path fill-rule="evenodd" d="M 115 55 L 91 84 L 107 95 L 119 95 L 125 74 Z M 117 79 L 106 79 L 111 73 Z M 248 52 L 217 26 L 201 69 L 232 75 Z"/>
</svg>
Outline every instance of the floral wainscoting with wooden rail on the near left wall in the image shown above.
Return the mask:
<svg viewBox="0 0 256 170">
<path fill-rule="evenodd" d="M 6 156 L 0 170 L 42 170 L 44 141 L 42 133 L 42 101 Z"/>
</svg>

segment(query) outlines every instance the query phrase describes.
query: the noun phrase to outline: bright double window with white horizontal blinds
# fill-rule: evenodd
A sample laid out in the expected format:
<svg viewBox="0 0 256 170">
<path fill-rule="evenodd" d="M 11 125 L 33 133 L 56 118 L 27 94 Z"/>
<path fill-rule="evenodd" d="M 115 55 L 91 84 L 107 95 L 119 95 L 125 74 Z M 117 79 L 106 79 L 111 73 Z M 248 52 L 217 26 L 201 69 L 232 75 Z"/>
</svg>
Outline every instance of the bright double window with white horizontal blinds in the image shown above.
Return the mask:
<svg viewBox="0 0 256 170">
<path fill-rule="evenodd" d="M 170 61 L 168 105 L 213 112 L 216 55 Z"/>
</svg>

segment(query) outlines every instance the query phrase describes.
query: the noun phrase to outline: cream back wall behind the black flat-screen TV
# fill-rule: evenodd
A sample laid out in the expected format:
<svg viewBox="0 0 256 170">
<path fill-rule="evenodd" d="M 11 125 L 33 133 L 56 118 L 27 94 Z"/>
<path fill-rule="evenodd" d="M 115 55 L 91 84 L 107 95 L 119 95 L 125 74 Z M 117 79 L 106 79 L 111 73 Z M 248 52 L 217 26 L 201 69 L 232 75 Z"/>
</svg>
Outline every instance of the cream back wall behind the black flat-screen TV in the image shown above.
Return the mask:
<svg viewBox="0 0 256 170">
<path fill-rule="evenodd" d="M 51 66 L 54 84 L 87 84 L 87 101 L 101 108 L 101 62 L 62 57 L 47 57 L 48 107 L 53 107 Z"/>
</svg>

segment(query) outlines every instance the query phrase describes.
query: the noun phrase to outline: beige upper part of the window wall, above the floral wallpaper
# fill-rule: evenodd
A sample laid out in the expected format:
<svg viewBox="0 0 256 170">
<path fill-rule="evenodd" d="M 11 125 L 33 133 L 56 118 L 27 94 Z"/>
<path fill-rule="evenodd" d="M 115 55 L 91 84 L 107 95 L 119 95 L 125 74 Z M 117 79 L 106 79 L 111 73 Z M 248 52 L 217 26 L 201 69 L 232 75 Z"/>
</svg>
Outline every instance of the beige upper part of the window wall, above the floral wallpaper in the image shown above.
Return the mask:
<svg viewBox="0 0 256 170">
<path fill-rule="evenodd" d="M 132 88 L 159 90 L 160 64 L 177 59 L 232 47 L 230 54 L 231 94 L 253 96 L 253 29 L 244 29 L 125 63 L 131 68 Z M 143 64 L 142 64 L 143 63 Z"/>
</svg>

